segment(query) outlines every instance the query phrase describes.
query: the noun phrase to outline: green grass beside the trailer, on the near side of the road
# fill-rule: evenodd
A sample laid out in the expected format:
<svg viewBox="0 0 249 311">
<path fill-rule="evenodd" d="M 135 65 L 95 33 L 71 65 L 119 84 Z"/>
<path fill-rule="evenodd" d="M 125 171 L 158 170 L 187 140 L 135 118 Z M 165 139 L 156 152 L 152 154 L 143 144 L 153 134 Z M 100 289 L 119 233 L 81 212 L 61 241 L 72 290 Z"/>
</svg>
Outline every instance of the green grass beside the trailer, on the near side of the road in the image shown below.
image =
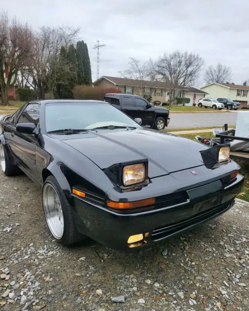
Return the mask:
<svg viewBox="0 0 249 311">
<path fill-rule="evenodd" d="M 191 134 L 181 134 L 180 136 L 190 139 L 195 139 L 199 135 L 201 137 L 214 137 L 212 133 L 191 133 Z M 242 191 L 237 196 L 238 199 L 245 200 L 249 202 L 249 162 L 243 160 L 235 160 L 240 166 L 240 173 L 245 176 L 245 183 Z"/>
</svg>

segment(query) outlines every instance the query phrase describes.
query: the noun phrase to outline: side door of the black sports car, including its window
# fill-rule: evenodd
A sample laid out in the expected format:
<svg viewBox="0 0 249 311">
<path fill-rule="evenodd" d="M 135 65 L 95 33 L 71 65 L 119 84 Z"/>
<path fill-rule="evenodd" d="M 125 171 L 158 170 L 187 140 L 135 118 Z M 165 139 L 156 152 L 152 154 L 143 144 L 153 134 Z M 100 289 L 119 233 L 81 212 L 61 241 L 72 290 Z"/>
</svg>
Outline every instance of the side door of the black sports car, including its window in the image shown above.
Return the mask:
<svg viewBox="0 0 249 311">
<path fill-rule="evenodd" d="M 37 179 L 35 168 L 35 148 L 37 143 L 37 135 L 23 134 L 16 130 L 19 123 L 34 123 L 38 127 L 40 104 L 30 103 L 21 112 L 15 127 L 11 132 L 11 148 L 19 166 L 31 178 Z"/>
</svg>

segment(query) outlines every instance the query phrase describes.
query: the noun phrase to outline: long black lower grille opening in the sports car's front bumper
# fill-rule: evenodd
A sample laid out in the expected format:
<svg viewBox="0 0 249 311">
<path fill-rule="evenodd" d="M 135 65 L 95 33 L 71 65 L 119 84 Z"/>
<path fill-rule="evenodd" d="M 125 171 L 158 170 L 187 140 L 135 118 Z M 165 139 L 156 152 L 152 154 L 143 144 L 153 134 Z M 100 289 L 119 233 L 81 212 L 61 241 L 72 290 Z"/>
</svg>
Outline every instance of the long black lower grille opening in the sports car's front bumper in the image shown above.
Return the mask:
<svg viewBox="0 0 249 311">
<path fill-rule="evenodd" d="M 207 210 L 206 212 L 202 212 L 188 219 L 184 219 L 181 222 L 158 227 L 152 231 L 152 234 L 151 234 L 152 241 L 153 242 L 160 241 L 162 239 L 165 239 L 173 235 L 174 233 L 180 232 L 188 227 L 198 225 L 208 219 L 211 219 L 219 214 L 222 214 L 223 212 L 225 212 L 227 209 L 231 207 L 232 202 L 233 202 L 233 199 L 222 205 L 213 207 Z"/>
</svg>

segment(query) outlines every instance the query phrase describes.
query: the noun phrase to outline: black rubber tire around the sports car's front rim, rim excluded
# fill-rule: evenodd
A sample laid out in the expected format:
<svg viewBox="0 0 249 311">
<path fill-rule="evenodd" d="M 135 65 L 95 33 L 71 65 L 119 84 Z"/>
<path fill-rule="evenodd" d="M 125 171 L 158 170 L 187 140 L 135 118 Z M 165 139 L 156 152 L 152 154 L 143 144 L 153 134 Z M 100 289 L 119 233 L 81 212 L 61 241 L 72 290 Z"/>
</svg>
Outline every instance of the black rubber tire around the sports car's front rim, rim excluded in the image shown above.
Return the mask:
<svg viewBox="0 0 249 311">
<path fill-rule="evenodd" d="M 62 243 L 63 245 L 71 245 L 71 244 L 74 244 L 76 242 L 79 242 L 79 241 L 86 239 L 87 237 L 85 235 L 79 233 L 77 230 L 72 208 L 69 205 L 69 203 L 66 199 L 66 196 L 65 196 L 63 190 L 61 189 L 60 185 L 58 184 L 56 178 L 54 176 L 50 175 L 45 180 L 45 183 L 43 185 L 43 190 L 44 190 L 45 185 L 48 183 L 50 183 L 50 185 L 52 185 L 52 187 L 57 192 L 58 198 L 59 198 L 60 203 L 61 203 L 63 218 L 64 218 L 63 237 L 60 240 L 56 239 L 55 237 L 54 238 L 58 242 Z M 44 209 L 44 214 L 45 214 L 44 202 L 43 202 L 43 209 Z M 46 218 L 46 215 L 45 215 L 45 218 Z M 46 218 L 46 221 L 47 221 L 47 218 Z M 47 225 L 48 225 L 48 223 L 47 223 Z M 52 232 L 51 232 L 51 234 L 52 234 Z"/>
</svg>

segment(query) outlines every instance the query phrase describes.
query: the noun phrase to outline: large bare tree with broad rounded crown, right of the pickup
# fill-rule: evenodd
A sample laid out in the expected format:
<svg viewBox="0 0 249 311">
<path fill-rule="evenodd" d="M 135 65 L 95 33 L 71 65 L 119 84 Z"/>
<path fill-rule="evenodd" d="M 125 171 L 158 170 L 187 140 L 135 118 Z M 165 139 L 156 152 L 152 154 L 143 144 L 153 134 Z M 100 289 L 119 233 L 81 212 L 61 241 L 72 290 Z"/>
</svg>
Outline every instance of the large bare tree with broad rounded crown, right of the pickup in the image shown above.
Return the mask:
<svg viewBox="0 0 249 311">
<path fill-rule="evenodd" d="M 179 51 L 165 53 L 154 62 L 155 78 L 167 83 L 170 103 L 185 86 L 196 82 L 203 64 L 204 61 L 198 54 Z"/>
</svg>

